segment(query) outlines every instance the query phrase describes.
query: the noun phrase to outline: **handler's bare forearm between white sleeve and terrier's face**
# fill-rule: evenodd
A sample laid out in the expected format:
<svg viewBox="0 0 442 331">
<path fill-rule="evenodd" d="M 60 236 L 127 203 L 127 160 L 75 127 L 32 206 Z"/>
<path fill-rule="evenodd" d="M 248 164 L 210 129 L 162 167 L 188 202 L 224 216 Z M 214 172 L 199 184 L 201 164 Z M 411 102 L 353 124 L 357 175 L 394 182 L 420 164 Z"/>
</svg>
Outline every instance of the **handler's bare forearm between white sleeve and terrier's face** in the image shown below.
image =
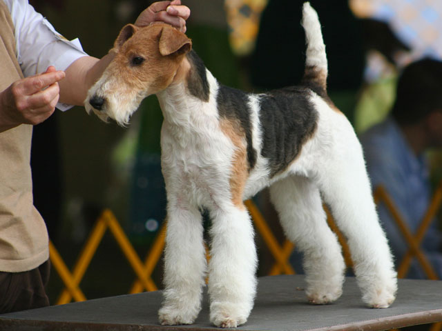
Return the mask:
<svg viewBox="0 0 442 331">
<path fill-rule="evenodd" d="M 102 76 L 112 61 L 113 52 L 102 59 L 80 57 L 66 69 L 66 78 L 59 82 L 60 102 L 69 105 L 83 106 L 90 86 Z"/>
</svg>

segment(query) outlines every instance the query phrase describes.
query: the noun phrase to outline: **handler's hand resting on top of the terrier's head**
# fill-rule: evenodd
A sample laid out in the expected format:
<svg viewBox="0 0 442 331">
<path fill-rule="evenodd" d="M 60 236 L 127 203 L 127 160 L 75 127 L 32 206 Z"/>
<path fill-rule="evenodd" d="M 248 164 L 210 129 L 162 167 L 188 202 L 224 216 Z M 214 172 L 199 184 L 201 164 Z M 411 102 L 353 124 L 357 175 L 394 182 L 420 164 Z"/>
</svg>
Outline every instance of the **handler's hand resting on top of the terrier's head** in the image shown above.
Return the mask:
<svg viewBox="0 0 442 331">
<path fill-rule="evenodd" d="M 135 21 L 135 26 L 148 26 L 155 21 L 163 21 L 175 26 L 181 32 L 186 32 L 186 19 L 191 10 L 181 4 L 181 0 L 158 1 L 148 6 Z"/>
</svg>

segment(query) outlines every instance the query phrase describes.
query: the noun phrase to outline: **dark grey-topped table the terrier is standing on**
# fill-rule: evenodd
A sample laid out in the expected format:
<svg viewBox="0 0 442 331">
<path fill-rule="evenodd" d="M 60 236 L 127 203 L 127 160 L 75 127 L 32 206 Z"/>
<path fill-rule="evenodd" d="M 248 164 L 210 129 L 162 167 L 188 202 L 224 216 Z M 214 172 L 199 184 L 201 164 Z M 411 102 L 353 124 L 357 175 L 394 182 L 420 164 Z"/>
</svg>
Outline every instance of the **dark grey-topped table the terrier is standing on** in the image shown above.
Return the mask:
<svg viewBox="0 0 442 331">
<path fill-rule="evenodd" d="M 310 305 L 304 288 L 302 275 L 260 278 L 255 307 L 238 330 L 387 330 L 442 321 L 442 281 L 399 280 L 387 309 L 366 308 L 352 277 L 330 305 Z M 160 291 L 144 292 L 2 314 L 0 330 L 220 330 L 209 323 L 206 294 L 193 325 L 159 325 L 161 300 Z"/>
</svg>

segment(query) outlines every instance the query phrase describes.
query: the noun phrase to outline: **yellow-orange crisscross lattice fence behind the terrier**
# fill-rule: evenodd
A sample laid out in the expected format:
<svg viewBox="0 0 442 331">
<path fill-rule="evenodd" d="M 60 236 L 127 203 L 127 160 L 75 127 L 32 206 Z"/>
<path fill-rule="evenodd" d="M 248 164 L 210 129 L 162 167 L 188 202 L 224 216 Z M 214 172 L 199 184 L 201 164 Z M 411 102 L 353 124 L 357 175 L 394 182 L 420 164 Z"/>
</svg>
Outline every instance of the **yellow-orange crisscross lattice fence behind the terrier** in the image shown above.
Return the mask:
<svg viewBox="0 0 442 331">
<path fill-rule="evenodd" d="M 425 232 L 427 232 L 432 219 L 434 219 L 437 212 L 441 208 L 442 183 L 439 184 L 439 187 L 434 192 L 430 206 L 425 213 L 425 216 L 423 217 L 419 228 L 414 234 L 407 227 L 407 224 L 403 220 L 401 213 L 394 205 L 394 202 L 387 194 L 386 190 L 381 186 L 374 190 L 374 200 L 378 205 L 381 203 L 385 204 L 385 207 L 387 208 L 387 210 L 390 211 L 390 214 L 392 215 L 394 221 L 396 222 L 396 225 L 398 226 L 398 230 L 403 235 L 405 241 L 407 241 L 407 245 L 409 247 L 407 254 L 405 254 L 405 257 L 403 257 L 401 263 L 398 265 L 398 277 L 405 277 L 405 274 L 407 274 L 407 271 L 410 268 L 410 262 L 412 261 L 412 258 L 416 257 L 417 261 L 422 267 L 422 270 L 427 275 L 427 278 L 438 279 L 434 268 L 427 260 L 427 258 L 425 257 L 425 253 L 421 250 L 419 246 L 421 245 L 421 241 L 423 240 Z M 289 257 L 291 255 L 291 252 L 293 252 L 294 250 L 294 244 L 288 240 L 281 244 L 276 239 L 273 232 L 271 231 L 269 224 L 267 224 L 264 217 L 262 217 L 260 210 L 258 210 L 253 201 L 246 201 L 246 206 L 249 209 L 256 230 L 262 237 L 262 240 L 264 241 L 265 245 L 269 249 L 269 252 L 275 260 L 269 272 L 269 275 L 294 274 L 295 270 L 289 263 Z M 330 213 L 327 206 L 324 205 L 324 209 L 327 213 L 327 223 L 329 224 L 330 228 L 332 228 L 332 230 L 338 235 L 340 244 L 343 247 L 343 254 L 345 262 L 347 263 L 347 267 L 351 267 L 352 259 L 350 257 L 345 237 L 336 227 L 332 214 Z M 99 219 L 97 219 L 92 232 L 90 232 L 88 240 L 86 241 L 84 248 L 81 250 L 79 258 L 77 259 L 72 272 L 70 272 L 70 270 L 64 263 L 59 252 L 55 248 L 55 245 L 53 245 L 52 242 L 49 243 L 50 261 L 52 262 L 52 265 L 59 276 L 61 277 L 64 285 L 66 286 L 66 288 L 62 290 L 59 299 L 57 300 L 57 304 L 68 303 L 72 300 L 86 300 L 86 296 L 81 291 L 79 284 L 81 283 L 81 279 L 83 279 L 84 274 L 88 266 L 90 265 L 90 261 L 97 251 L 99 243 L 102 241 L 106 230 L 111 231 L 111 234 L 113 234 L 113 237 L 115 238 L 115 241 L 117 241 L 119 248 L 121 248 L 129 265 L 131 265 L 131 268 L 136 274 L 137 278 L 133 282 L 129 293 L 132 294 L 142 292 L 143 290 L 157 290 L 157 285 L 155 284 L 151 276 L 162 255 L 166 234 L 166 225 L 163 225 L 160 232 L 157 234 L 157 237 L 153 242 L 152 247 L 146 254 L 146 258 L 143 262 L 138 256 L 137 252 L 135 252 L 133 245 L 126 237 L 126 234 L 124 233 L 123 229 L 119 225 L 111 210 L 104 210 Z M 209 254 L 207 254 L 207 258 L 209 259 Z M 432 328 L 430 330 L 439 331 L 441 329 L 442 323 L 435 323 L 432 325 Z"/>
</svg>

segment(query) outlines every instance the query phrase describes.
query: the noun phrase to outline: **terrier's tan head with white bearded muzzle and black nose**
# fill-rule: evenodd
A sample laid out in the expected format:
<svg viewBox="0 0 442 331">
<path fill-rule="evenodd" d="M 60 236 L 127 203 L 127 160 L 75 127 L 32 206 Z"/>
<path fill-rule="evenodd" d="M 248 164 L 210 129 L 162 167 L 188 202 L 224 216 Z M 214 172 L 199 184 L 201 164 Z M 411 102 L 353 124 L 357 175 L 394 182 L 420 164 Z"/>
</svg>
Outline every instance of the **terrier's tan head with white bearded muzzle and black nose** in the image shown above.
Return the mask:
<svg viewBox="0 0 442 331">
<path fill-rule="evenodd" d="M 128 123 L 145 97 L 173 82 L 191 45 L 184 33 L 165 23 L 124 26 L 111 50 L 115 58 L 88 91 L 86 111 L 104 121 L 111 117 L 119 125 Z"/>
</svg>

